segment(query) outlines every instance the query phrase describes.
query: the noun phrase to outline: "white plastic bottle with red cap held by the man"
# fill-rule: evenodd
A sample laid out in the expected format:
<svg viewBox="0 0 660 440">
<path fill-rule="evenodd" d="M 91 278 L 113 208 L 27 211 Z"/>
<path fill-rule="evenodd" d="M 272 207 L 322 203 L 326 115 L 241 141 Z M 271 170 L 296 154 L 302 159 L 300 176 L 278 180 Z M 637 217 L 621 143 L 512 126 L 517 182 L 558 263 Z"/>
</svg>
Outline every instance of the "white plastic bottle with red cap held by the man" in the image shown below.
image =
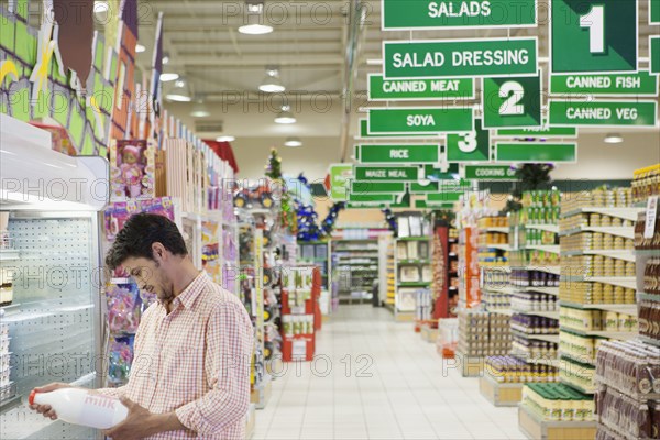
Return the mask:
<svg viewBox="0 0 660 440">
<path fill-rule="evenodd" d="M 57 418 L 73 425 L 109 429 L 122 422 L 129 408 L 113 397 L 80 388 L 62 388 L 51 393 L 30 393 L 30 405 L 50 405 Z"/>
</svg>

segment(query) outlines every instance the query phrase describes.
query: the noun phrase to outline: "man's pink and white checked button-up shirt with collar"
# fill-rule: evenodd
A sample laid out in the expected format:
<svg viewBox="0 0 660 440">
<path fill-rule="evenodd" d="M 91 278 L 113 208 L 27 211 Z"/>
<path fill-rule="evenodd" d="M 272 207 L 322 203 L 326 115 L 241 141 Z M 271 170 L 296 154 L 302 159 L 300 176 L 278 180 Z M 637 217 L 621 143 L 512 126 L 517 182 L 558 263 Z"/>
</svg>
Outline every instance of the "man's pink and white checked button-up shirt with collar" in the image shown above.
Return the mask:
<svg viewBox="0 0 660 440">
<path fill-rule="evenodd" d="M 253 327 L 231 293 L 200 273 L 172 302 L 142 316 L 129 383 L 101 393 L 125 396 L 154 414 L 176 411 L 183 431 L 165 439 L 244 439 Z"/>
</svg>

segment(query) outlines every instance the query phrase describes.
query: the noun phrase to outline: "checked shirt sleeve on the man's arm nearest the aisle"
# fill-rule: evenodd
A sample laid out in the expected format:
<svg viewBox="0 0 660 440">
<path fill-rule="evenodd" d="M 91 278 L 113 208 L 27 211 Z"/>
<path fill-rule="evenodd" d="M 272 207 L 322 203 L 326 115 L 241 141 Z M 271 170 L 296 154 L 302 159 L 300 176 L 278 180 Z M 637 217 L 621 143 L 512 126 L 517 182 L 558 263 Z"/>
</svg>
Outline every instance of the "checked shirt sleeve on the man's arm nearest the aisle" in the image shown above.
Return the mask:
<svg viewBox="0 0 660 440">
<path fill-rule="evenodd" d="M 205 374 L 210 391 L 176 409 L 179 421 L 200 436 L 242 424 L 250 406 L 253 327 L 240 302 L 223 302 L 211 314 L 206 336 Z"/>
</svg>

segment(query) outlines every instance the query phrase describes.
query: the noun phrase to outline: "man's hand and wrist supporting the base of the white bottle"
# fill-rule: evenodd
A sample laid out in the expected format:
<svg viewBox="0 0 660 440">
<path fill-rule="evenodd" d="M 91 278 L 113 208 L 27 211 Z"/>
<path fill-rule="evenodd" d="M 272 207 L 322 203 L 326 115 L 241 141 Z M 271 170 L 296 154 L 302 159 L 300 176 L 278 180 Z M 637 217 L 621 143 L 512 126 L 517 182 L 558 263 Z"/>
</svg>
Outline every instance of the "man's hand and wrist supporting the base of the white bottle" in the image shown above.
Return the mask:
<svg viewBox="0 0 660 440">
<path fill-rule="evenodd" d="M 103 435 L 112 439 L 138 440 L 158 432 L 187 429 L 174 413 L 152 414 L 125 397 L 120 400 L 129 408 L 129 415 L 121 424 L 103 431 Z"/>
</svg>

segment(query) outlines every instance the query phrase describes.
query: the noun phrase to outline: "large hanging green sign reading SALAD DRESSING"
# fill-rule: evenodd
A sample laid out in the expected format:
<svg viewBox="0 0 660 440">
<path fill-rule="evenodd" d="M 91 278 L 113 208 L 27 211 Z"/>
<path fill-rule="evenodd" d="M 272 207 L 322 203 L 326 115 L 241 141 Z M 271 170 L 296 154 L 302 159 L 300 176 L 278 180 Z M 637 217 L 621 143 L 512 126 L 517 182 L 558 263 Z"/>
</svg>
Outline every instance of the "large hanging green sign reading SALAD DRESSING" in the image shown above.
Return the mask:
<svg viewBox="0 0 660 440">
<path fill-rule="evenodd" d="M 383 42 L 384 77 L 521 76 L 538 72 L 536 37 Z"/>
</svg>

